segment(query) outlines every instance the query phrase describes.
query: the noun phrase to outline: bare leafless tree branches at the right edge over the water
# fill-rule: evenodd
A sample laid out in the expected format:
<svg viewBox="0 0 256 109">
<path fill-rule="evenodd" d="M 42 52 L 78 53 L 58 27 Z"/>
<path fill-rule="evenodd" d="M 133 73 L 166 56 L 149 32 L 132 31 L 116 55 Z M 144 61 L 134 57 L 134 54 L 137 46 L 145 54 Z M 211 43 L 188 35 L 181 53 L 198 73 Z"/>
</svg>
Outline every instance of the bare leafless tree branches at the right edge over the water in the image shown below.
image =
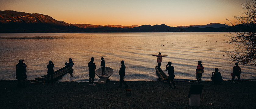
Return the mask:
<svg viewBox="0 0 256 109">
<path fill-rule="evenodd" d="M 236 32 L 226 35 L 229 38 L 227 42 L 235 45 L 233 49 L 226 50 L 226 54 L 231 64 L 239 62 L 242 65 L 256 66 L 256 0 L 247 0 L 242 6 L 246 12 L 242 12 L 244 16 L 233 16 L 237 20 L 235 25 L 227 19 L 229 26 L 233 26 Z"/>
</svg>

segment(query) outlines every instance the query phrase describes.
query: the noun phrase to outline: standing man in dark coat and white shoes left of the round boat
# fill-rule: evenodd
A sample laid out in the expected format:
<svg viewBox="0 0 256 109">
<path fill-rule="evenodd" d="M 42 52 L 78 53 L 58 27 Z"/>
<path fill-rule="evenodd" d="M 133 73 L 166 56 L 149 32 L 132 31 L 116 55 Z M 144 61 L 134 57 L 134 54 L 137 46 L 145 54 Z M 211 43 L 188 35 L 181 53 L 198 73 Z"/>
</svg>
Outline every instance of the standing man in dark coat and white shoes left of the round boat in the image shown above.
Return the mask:
<svg viewBox="0 0 256 109">
<path fill-rule="evenodd" d="M 96 65 L 93 63 L 94 58 L 91 57 L 91 61 L 88 63 L 88 68 L 89 68 L 89 85 L 91 86 L 96 86 L 96 84 L 93 83 L 94 77 L 95 77 L 95 69 Z"/>
</svg>

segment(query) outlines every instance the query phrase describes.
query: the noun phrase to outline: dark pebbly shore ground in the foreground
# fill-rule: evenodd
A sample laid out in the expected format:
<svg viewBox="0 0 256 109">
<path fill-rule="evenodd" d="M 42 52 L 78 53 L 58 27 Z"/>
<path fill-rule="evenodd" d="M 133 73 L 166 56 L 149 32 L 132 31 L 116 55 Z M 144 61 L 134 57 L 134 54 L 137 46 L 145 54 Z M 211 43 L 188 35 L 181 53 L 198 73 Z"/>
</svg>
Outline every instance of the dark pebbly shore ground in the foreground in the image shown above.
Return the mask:
<svg viewBox="0 0 256 109">
<path fill-rule="evenodd" d="M 105 108 L 163 108 L 163 109 L 255 109 L 256 81 L 241 84 L 224 81 L 212 85 L 204 81 L 200 107 L 190 107 L 188 93 L 196 81 L 175 81 L 177 88 L 169 89 L 159 81 L 128 81 L 132 95 L 126 96 L 119 82 L 89 86 L 88 82 L 55 82 L 29 84 L 17 88 L 17 81 L 0 81 L 1 109 L 105 109 Z"/>
</svg>

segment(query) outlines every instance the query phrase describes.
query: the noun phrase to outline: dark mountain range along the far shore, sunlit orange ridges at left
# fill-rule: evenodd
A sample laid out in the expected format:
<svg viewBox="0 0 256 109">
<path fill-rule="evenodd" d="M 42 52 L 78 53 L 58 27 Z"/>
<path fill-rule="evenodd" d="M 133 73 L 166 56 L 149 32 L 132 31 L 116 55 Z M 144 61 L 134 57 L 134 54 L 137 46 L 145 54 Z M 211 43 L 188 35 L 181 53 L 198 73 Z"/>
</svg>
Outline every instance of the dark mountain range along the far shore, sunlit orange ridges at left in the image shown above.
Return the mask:
<svg viewBox="0 0 256 109">
<path fill-rule="evenodd" d="M 240 29 L 237 29 L 240 28 Z M 240 31 L 244 25 L 229 27 L 220 23 L 170 27 L 162 25 L 91 25 L 69 24 L 48 15 L 16 11 L 0 11 L 0 33 L 23 32 L 231 32 Z"/>
</svg>

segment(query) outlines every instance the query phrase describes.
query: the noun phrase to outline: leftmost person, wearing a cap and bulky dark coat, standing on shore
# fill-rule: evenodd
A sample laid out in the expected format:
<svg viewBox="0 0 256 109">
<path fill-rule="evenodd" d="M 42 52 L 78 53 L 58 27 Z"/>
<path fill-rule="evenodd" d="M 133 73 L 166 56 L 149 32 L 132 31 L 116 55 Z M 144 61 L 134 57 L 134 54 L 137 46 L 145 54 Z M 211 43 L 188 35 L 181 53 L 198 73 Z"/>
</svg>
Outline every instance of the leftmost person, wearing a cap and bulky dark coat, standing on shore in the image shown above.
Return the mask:
<svg viewBox="0 0 256 109">
<path fill-rule="evenodd" d="M 16 79 L 18 79 L 18 88 L 25 88 L 25 79 L 27 79 L 27 65 L 23 63 L 24 60 L 20 59 L 19 63 L 16 64 Z"/>
</svg>

